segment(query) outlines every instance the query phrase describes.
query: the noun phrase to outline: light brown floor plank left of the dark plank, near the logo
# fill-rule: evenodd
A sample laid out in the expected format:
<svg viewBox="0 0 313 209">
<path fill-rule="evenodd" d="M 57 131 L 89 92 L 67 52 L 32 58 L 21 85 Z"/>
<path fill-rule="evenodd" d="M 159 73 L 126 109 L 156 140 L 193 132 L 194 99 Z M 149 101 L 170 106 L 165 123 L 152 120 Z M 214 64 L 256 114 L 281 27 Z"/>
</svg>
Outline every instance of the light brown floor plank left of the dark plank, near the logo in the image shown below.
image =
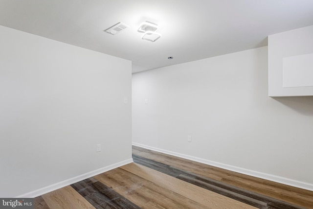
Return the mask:
<svg viewBox="0 0 313 209">
<path fill-rule="evenodd" d="M 42 195 L 50 209 L 95 209 L 71 186 L 65 186 Z"/>
</svg>

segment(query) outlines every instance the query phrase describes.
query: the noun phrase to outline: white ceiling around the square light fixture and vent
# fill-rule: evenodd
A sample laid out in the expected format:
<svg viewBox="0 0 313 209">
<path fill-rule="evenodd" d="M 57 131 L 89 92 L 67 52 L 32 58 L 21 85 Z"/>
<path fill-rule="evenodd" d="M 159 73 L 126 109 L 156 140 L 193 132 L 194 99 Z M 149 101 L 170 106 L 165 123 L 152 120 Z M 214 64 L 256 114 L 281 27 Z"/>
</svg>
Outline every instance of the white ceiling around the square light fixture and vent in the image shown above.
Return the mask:
<svg viewBox="0 0 313 209">
<path fill-rule="evenodd" d="M 159 25 L 154 43 L 137 32 L 145 21 Z M 103 31 L 118 22 L 130 28 Z M 137 72 L 267 46 L 270 34 L 312 25 L 313 0 L 0 0 L 0 24 L 131 60 Z"/>
</svg>

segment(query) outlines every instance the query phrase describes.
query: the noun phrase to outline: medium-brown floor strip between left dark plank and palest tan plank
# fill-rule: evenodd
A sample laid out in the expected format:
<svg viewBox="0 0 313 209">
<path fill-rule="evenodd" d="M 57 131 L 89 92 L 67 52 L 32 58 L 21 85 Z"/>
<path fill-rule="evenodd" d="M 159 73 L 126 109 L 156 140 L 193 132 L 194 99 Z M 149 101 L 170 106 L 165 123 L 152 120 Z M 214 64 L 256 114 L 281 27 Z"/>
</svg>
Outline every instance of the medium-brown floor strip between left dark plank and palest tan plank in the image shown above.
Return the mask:
<svg viewBox="0 0 313 209">
<path fill-rule="evenodd" d="M 131 172 L 121 168 L 116 168 L 106 173 L 95 176 L 100 182 L 112 186 L 114 190 L 119 190 L 128 199 L 134 197 L 134 202 L 141 208 L 147 207 L 150 202 L 156 208 L 163 207 L 168 209 L 204 209 L 208 208 L 196 201 L 186 198 L 171 189 L 166 189 L 157 184 L 141 178 Z M 143 201 L 140 201 L 143 200 Z M 151 205 L 150 205 L 151 207 Z"/>
</svg>

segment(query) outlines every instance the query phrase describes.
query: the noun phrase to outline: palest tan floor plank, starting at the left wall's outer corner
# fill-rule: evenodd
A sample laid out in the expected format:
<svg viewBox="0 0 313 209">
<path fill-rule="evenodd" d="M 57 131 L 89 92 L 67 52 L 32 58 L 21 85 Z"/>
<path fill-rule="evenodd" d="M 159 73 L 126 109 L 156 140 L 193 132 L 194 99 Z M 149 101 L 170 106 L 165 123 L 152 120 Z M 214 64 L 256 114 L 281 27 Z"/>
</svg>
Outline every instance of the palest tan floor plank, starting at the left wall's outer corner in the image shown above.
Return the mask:
<svg viewBox="0 0 313 209">
<path fill-rule="evenodd" d="M 189 198 L 195 202 L 207 208 L 226 209 L 252 209 L 254 207 L 217 194 L 215 192 L 203 189 L 199 186 L 195 186 L 172 176 L 158 172 L 143 165 L 130 163 L 121 167 L 124 170 L 129 171 L 143 179 L 146 179 L 162 188 L 172 190 L 185 198 Z"/>
</svg>

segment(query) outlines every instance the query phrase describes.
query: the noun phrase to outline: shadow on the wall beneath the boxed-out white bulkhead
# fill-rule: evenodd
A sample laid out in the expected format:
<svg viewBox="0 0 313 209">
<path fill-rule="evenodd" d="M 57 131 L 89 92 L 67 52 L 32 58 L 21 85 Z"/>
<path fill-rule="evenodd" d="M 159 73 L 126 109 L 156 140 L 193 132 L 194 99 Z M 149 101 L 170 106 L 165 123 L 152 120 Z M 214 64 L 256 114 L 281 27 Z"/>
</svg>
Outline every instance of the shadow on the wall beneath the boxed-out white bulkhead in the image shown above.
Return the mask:
<svg viewBox="0 0 313 209">
<path fill-rule="evenodd" d="M 273 99 L 300 114 L 313 116 L 313 96 L 275 97 Z"/>
</svg>

